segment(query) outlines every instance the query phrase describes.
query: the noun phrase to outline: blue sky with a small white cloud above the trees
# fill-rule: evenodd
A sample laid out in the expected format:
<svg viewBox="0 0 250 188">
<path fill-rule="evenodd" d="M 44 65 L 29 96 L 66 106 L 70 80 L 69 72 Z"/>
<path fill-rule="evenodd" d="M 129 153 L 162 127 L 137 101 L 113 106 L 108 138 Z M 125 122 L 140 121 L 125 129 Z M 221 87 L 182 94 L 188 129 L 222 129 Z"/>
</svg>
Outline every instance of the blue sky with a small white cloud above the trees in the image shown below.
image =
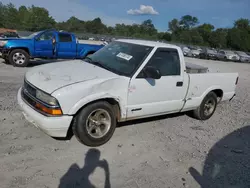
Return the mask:
<svg viewBox="0 0 250 188">
<path fill-rule="evenodd" d="M 71 16 L 81 20 L 100 17 L 103 23 L 141 23 L 152 19 L 159 31 L 168 29 L 168 22 L 184 15 L 196 16 L 200 23 L 216 28 L 232 27 L 239 18 L 250 19 L 250 0 L 0 0 L 2 3 L 45 7 L 56 21 Z"/>
</svg>

